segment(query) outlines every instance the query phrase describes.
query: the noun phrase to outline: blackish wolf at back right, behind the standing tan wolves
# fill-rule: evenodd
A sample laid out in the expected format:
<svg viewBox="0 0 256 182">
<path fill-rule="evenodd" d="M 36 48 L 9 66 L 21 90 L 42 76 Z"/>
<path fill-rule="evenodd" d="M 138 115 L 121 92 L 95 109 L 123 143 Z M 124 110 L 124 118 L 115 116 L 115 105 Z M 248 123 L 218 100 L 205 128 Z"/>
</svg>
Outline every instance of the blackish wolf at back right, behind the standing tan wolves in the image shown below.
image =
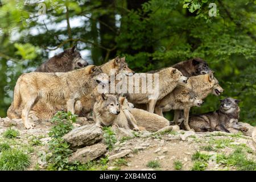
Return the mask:
<svg viewBox="0 0 256 182">
<path fill-rule="evenodd" d="M 187 61 L 181 61 L 180 63 L 172 65 L 171 67 L 178 69 L 185 77 L 205 75 L 212 72 L 207 62 L 199 57 L 192 58 Z M 156 73 L 160 70 L 162 69 L 150 71 L 148 73 Z"/>
</svg>

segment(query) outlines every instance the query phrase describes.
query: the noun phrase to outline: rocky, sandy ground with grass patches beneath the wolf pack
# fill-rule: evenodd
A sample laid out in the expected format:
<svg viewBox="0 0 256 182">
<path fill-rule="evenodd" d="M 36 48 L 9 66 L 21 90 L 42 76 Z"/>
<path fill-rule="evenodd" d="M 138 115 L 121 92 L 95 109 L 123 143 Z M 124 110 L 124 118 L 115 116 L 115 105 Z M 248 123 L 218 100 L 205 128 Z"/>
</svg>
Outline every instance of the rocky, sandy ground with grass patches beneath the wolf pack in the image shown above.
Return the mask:
<svg viewBox="0 0 256 182">
<path fill-rule="evenodd" d="M 117 142 L 109 150 L 100 128 L 82 118 L 78 120 L 76 129 L 64 136 L 76 151 L 69 158 L 71 161 L 86 163 L 108 156 L 104 168 L 108 170 L 256 170 L 256 148 L 251 137 L 242 133 L 184 130 L 150 133 L 113 127 Z M 52 126 L 49 121 L 37 120 L 34 129 L 25 130 L 20 119 L 0 118 L 0 144 L 7 142 L 26 151 L 31 159 L 28 170 L 44 170 Z M 10 127 L 19 131 L 16 137 L 6 137 Z"/>
</svg>

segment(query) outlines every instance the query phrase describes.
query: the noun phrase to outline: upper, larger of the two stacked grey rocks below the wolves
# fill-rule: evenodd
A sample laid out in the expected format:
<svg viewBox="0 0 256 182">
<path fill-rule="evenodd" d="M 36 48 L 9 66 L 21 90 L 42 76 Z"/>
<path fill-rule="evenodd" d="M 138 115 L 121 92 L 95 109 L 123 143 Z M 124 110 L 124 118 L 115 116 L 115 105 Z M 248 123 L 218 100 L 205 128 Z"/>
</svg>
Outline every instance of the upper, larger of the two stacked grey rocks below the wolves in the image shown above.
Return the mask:
<svg viewBox="0 0 256 182">
<path fill-rule="evenodd" d="M 73 150 L 84 146 L 90 146 L 103 138 L 103 131 L 96 125 L 85 125 L 73 129 L 63 136 Z"/>
</svg>

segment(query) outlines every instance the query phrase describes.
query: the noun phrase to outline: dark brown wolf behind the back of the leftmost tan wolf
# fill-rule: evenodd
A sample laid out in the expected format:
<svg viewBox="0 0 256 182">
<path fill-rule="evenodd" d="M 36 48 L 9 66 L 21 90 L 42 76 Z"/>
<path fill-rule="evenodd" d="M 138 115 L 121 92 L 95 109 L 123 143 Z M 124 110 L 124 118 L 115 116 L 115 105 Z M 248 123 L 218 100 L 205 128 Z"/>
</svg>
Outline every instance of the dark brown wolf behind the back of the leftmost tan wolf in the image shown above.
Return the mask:
<svg viewBox="0 0 256 182">
<path fill-rule="evenodd" d="M 53 56 L 46 63 L 36 68 L 35 72 L 69 72 L 74 69 L 86 67 L 87 65 L 87 61 L 82 59 L 80 52 L 74 46 L 65 49 L 59 55 Z"/>
</svg>

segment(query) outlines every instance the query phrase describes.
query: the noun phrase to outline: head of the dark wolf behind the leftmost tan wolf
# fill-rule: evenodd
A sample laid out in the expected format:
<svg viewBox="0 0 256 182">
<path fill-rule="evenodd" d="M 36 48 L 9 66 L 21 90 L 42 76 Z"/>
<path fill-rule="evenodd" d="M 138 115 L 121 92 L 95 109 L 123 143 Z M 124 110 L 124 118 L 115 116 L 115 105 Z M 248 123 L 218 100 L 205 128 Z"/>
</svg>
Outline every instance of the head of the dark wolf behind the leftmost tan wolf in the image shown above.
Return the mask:
<svg viewBox="0 0 256 182">
<path fill-rule="evenodd" d="M 76 49 L 76 46 L 65 49 L 63 55 L 68 56 L 68 58 L 72 60 L 72 69 L 79 69 L 88 65 L 87 61 L 82 59 L 80 52 Z"/>
</svg>

